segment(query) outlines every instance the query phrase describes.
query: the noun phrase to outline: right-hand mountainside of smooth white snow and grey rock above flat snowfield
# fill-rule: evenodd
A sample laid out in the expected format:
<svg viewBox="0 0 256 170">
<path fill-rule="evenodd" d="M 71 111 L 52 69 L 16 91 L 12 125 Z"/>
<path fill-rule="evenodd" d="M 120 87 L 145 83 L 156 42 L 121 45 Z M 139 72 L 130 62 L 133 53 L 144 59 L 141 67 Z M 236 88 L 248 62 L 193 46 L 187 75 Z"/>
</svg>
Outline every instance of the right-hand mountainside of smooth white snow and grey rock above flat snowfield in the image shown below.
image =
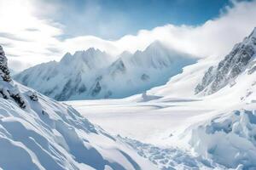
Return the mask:
<svg viewBox="0 0 256 170">
<path fill-rule="evenodd" d="M 239 102 L 253 91 L 250 89 L 254 87 L 255 54 L 256 29 L 243 42 L 237 43 L 224 59 L 212 57 L 185 66 L 183 73 L 172 77 L 164 86 L 150 89 L 148 95 L 206 99 L 221 96 Z M 214 94 L 216 92 L 218 94 Z"/>
</svg>

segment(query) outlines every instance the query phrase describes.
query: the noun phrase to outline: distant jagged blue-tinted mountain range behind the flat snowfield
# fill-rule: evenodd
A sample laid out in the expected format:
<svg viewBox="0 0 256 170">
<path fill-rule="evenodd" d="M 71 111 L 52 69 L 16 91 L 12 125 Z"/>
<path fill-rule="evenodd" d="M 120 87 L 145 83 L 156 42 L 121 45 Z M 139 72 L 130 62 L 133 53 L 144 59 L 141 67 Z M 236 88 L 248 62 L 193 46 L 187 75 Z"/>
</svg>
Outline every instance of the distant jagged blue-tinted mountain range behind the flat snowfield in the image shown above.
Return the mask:
<svg viewBox="0 0 256 170">
<path fill-rule="evenodd" d="M 115 58 L 90 48 L 36 65 L 15 80 L 57 100 L 123 98 L 164 84 L 195 61 L 160 42 Z"/>
</svg>

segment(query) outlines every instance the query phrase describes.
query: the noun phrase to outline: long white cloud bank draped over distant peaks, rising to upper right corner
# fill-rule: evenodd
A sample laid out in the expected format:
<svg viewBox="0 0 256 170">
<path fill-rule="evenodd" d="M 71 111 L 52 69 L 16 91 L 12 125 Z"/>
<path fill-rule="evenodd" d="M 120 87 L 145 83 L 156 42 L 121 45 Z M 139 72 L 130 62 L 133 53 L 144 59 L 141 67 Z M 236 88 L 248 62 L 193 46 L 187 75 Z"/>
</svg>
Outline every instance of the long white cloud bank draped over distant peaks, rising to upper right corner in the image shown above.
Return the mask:
<svg viewBox="0 0 256 170">
<path fill-rule="evenodd" d="M 137 49 L 146 48 L 150 42 L 158 39 L 166 42 L 169 47 L 198 57 L 212 55 L 222 57 L 256 26 L 256 1 L 233 2 L 233 4 L 233 8 L 227 7 L 218 18 L 208 20 L 201 26 L 160 26 L 151 31 L 139 31 L 136 36 L 125 36 L 113 42 L 99 40 L 95 37 L 74 39 L 79 39 L 79 44 L 87 46 L 90 46 L 91 41 L 97 48 L 107 51 L 109 51 L 108 46 L 111 46 L 113 53 L 123 50 L 134 52 Z M 67 39 L 67 44 L 71 45 L 74 39 Z M 100 42 L 99 45 L 97 42 Z M 82 47 L 78 46 L 78 48 Z"/>
</svg>

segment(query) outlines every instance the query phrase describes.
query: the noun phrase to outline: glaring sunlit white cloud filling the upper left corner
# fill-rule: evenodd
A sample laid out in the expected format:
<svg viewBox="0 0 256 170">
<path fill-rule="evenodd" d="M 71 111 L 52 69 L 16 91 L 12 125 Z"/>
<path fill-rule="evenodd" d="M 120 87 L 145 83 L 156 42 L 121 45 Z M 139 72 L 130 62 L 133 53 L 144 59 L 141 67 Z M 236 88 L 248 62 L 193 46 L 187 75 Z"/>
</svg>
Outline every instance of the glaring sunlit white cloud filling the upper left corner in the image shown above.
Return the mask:
<svg viewBox="0 0 256 170">
<path fill-rule="evenodd" d="M 55 37 L 61 35 L 61 29 L 49 20 L 38 20 L 34 11 L 28 0 L 0 0 L 0 44 L 10 64 L 20 60 L 24 67 L 35 65 L 53 59 L 52 55 L 56 54 L 50 48 L 60 48 L 61 43 Z"/>
</svg>

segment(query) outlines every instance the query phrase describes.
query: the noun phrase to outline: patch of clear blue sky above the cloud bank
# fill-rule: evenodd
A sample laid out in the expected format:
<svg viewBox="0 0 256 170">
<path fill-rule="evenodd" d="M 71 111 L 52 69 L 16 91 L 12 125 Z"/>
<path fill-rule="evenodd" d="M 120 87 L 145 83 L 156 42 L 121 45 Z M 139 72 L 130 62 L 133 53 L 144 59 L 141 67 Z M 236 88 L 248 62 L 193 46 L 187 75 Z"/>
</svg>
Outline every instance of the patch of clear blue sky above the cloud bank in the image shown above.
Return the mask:
<svg viewBox="0 0 256 170">
<path fill-rule="evenodd" d="M 229 0 L 44 0 L 43 15 L 65 26 L 64 37 L 117 39 L 166 24 L 201 25 L 218 17 Z M 41 4 L 40 4 L 41 5 Z"/>
</svg>

